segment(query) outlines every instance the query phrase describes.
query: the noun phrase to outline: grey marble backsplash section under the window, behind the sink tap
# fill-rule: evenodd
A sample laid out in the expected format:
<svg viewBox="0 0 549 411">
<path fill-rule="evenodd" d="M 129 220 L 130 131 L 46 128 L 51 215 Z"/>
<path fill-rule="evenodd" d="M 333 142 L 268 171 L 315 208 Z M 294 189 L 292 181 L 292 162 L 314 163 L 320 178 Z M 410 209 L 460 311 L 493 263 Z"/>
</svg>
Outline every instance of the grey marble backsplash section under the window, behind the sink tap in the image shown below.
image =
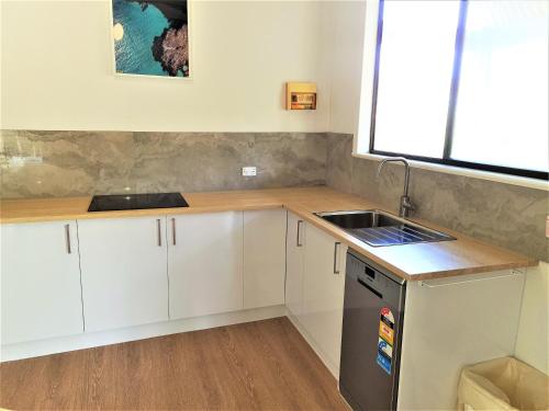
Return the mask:
<svg viewBox="0 0 549 411">
<path fill-rule="evenodd" d="M 327 184 L 397 213 L 402 165 L 388 164 L 377 180 L 379 161 L 355 158 L 351 152 L 352 136 L 327 136 Z M 416 205 L 412 216 L 549 261 L 547 191 L 416 168 L 410 179 L 410 196 Z"/>
</svg>

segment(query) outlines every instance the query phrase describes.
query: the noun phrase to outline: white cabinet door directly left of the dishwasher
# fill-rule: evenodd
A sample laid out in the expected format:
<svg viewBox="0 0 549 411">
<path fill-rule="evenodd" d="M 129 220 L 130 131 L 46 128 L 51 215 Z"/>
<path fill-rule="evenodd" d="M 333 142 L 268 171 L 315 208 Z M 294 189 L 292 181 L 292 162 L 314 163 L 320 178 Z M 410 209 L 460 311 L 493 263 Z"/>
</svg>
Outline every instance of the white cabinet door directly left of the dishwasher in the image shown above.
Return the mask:
<svg viewBox="0 0 549 411">
<path fill-rule="evenodd" d="M 303 278 L 303 328 L 333 369 L 341 351 L 347 247 L 307 224 Z"/>
</svg>

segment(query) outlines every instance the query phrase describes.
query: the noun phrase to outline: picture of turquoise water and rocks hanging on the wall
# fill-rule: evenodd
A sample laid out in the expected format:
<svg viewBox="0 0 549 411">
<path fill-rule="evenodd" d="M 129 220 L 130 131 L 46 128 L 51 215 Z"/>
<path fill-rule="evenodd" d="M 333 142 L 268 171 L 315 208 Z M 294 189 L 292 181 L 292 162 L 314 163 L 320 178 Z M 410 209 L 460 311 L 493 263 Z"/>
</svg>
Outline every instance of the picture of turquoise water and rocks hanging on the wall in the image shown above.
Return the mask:
<svg viewBox="0 0 549 411">
<path fill-rule="evenodd" d="M 189 78 L 189 0 L 111 0 L 119 75 Z"/>
</svg>

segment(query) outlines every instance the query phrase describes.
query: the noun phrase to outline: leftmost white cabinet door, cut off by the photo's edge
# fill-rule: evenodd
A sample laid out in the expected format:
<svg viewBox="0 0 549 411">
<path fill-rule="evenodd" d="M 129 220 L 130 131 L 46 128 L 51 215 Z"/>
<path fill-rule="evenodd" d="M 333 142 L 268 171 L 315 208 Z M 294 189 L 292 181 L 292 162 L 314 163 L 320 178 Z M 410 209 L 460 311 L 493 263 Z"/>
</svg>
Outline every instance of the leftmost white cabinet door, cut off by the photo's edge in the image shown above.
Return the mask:
<svg viewBox="0 0 549 411">
<path fill-rule="evenodd" d="M 0 230 L 2 344 L 83 332 L 76 221 Z"/>
</svg>

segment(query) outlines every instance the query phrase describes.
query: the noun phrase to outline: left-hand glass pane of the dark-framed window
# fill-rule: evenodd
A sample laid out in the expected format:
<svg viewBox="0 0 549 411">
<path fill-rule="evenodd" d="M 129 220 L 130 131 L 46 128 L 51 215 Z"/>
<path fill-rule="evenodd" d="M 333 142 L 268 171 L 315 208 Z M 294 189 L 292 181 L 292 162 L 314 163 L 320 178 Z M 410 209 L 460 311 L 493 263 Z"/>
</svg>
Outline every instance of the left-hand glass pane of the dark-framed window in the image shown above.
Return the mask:
<svg viewBox="0 0 549 411">
<path fill-rule="evenodd" d="M 459 1 L 381 2 L 374 149 L 441 158 Z"/>
</svg>

